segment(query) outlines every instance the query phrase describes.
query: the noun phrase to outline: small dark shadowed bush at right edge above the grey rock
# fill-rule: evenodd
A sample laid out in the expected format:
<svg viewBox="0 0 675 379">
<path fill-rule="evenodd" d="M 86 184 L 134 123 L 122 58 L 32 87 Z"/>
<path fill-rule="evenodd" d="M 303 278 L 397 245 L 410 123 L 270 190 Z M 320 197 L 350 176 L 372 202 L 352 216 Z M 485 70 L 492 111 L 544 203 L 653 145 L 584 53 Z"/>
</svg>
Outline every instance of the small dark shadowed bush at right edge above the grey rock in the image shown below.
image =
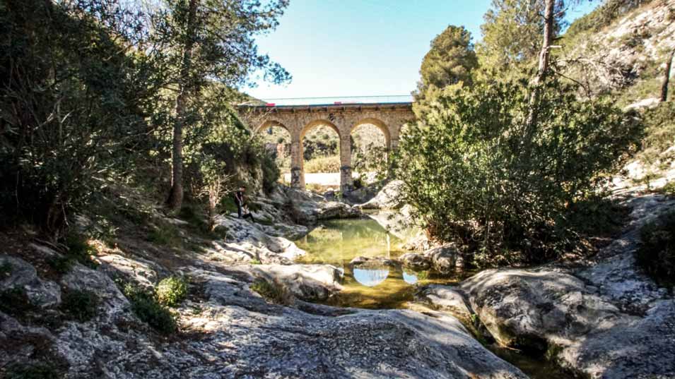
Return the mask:
<svg viewBox="0 0 675 379">
<path fill-rule="evenodd" d="M 638 249 L 638 264 L 656 282 L 675 286 L 675 212 L 640 229 L 642 246 Z"/>
</svg>

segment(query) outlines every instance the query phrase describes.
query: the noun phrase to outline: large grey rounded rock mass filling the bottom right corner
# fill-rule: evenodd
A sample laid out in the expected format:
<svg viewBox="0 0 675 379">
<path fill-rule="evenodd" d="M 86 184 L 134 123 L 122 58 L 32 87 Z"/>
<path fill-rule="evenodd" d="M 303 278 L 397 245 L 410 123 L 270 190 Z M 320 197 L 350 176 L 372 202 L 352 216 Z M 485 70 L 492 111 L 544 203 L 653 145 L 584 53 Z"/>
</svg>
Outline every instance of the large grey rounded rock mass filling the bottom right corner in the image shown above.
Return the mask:
<svg viewBox="0 0 675 379">
<path fill-rule="evenodd" d="M 674 378 L 675 299 L 635 264 L 639 228 L 675 205 L 642 195 L 621 236 L 586 267 L 486 270 L 461 285 L 501 344 L 548 351 L 589 378 Z"/>
</svg>

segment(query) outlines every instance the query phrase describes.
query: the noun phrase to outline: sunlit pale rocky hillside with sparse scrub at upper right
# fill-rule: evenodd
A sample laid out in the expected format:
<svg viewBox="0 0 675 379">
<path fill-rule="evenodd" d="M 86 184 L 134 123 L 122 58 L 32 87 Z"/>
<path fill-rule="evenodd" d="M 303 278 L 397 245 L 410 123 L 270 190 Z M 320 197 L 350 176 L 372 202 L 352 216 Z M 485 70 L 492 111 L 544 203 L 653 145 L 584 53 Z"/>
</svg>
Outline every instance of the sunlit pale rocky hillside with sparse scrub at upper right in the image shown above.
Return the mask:
<svg viewBox="0 0 675 379">
<path fill-rule="evenodd" d="M 611 4 L 611 1 L 608 3 Z M 675 179 L 675 106 L 659 103 L 667 61 L 675 51 L 675 1 L 641 1 L 622 12 L 599 6 L 563 35 L 560 71 L 581 83 L 580 95 L 611 94 L 645 122 L 642 148 L 626 166 L 620 187 L 663 186 Z M 675 70 L 670 71 L 669 98 Z"/>
</svg>

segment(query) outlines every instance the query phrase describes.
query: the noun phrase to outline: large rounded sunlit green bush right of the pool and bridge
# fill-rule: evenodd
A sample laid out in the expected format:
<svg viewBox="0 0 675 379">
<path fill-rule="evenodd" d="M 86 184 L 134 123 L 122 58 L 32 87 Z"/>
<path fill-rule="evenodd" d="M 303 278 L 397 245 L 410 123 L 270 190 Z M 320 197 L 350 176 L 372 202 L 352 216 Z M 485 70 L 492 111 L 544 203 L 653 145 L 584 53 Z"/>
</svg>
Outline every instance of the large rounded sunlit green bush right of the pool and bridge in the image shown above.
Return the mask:
<svg viewBox="0 0 675 379">
<path fill-rule="evenodd" d="M 530 127 L 528 86 L 449 86 L 399 144 L 404 200 L 433 236 L 481 253 L 483 264 L 505 251 L 537 262 L 574 246 L 570 205 L 595 193 L 641 136 L 609 101 L 577 101 L 556 80 Z"/>
</svg>

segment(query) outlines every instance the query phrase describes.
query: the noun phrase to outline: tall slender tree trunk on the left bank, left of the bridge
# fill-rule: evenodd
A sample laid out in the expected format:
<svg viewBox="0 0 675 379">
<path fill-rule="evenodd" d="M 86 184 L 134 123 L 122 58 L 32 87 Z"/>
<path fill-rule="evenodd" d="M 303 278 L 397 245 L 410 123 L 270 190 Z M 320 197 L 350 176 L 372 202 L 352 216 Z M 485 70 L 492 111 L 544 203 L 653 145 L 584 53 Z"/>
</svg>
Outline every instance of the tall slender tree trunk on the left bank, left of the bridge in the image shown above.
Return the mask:
<svg viewBox="0 0 675 379">
<path fill-rule="evenodd" d="M 173 125 L 173 147 L 171 154 L 171 191 L 167 203 L 171 210 L 180 210 L 183 203 L 183 126 L 185 122 L 185 103 L 190 90 L 190 70 L 192 68 L 192 48 L 198 0 L 190 0 L 187 18 L 187 32 L 183 42 L 183 59 L 178 78 L 178 96 L 176 97 L 176 121 Z"/>
</svg>

